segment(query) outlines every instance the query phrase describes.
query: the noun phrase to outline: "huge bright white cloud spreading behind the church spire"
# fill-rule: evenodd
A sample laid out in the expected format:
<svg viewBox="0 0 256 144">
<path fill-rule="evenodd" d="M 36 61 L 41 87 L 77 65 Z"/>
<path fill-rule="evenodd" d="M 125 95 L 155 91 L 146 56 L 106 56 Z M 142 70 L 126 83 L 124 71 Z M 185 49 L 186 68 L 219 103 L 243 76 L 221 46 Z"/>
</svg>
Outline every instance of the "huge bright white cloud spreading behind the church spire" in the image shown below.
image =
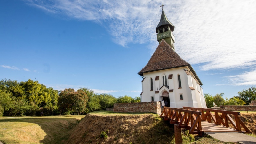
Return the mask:
<svg viewBox="0 0 256 144">
<path fill-rule="evenodd" d="M 157 47 L 155 28 L 161 8 L 157 0 L 25 0 L 46 12 L 105 26 L 115 42 Z M 163 1 L 175 25 L 176 52 L 200 69 L 233 69 L 256 65 L 256 1 Z M 153 52 L 151 52 L 153 53 Z"/>
</svg>

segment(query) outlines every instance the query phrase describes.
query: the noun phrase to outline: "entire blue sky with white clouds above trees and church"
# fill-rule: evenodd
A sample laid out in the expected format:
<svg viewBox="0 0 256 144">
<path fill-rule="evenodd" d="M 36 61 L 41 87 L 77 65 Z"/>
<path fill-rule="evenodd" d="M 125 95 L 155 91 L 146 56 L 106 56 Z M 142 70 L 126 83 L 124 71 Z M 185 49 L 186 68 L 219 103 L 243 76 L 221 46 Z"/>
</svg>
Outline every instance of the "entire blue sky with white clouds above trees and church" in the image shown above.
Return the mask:
<svg viewBox="0 0 256 144">
<path fill-rule="evenodd" d="M 2 0 L 0 79 L 140 96 L 137 73 L 157 47 L 162 3 L 175 26 L 175 50 L 204 93 L 230 98 L 256 86 L 253 0 Z"/>
</svg>

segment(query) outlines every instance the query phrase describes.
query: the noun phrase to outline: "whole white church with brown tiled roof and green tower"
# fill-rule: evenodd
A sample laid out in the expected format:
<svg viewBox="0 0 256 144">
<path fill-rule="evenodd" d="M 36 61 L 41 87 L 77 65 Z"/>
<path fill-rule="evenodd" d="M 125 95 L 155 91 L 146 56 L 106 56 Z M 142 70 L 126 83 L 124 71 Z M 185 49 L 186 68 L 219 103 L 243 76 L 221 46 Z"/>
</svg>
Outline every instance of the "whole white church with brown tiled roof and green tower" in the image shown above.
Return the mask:
<svg viewBox="0 0 256 144">
<path fill-rule="evenodd" d="M 162 5 L 163 6 L 163 5 Z M 207 108 L 203 85 L 192 66 L 175 52 L 174 25 L 164 9 L 156 27 L 159 45 L 138 73 L 142 76 L 141 102 L 162 101 L 167 107 Z"/>
</svg>

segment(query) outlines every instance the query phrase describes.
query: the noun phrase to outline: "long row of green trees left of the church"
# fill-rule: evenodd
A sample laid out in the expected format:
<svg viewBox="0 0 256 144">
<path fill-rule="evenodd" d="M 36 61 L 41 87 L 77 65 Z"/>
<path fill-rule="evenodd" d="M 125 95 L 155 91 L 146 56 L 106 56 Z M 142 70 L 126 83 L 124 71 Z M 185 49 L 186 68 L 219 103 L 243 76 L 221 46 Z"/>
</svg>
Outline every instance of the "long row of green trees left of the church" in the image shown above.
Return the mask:
<svg viewBox="0 0 256 144">
<path fill-rule="evenodd" d="M 47 88 L 38 81 L 0 81 L 0 116 L 86 114 L 113 108 L 114 103 L 140 102 L 140 97 L 95 94 L 88 88 L 63 91 Z"/>
</svg>

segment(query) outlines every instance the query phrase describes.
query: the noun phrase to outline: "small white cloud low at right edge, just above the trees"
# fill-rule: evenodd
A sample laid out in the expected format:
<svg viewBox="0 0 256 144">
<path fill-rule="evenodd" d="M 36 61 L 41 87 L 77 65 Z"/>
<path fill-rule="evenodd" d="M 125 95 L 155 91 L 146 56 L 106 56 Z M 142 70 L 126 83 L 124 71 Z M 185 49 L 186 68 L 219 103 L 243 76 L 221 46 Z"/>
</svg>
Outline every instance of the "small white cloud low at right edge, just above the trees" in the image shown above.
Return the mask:
<svg viewBox="0 0 256 144">
<path fill-rule="evenodd" d="M 240 75 L 226 76 L 231 85 L 256 85 L 256 69 Z"/>
</svg>

